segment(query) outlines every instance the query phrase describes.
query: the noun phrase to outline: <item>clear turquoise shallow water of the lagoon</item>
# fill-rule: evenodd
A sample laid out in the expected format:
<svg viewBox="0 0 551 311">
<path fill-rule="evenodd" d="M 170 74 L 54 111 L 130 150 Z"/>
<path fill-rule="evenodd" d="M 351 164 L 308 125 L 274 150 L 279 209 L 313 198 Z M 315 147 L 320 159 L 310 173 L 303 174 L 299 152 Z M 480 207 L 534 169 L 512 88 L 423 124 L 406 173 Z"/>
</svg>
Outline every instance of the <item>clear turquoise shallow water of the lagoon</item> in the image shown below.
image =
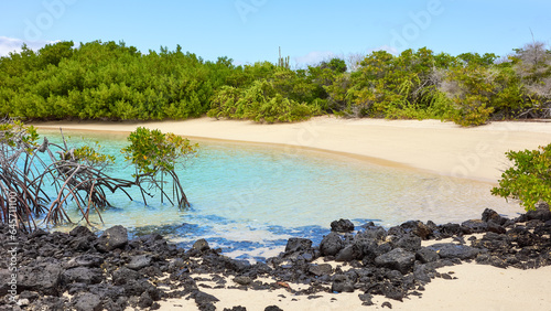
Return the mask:
<svg viewBox="0 0 551 311">
<path fill-rule="evenodd" d="M 64 132 L 100 141 L 105 152 L 118 158 L 114 175 L 130 178 L 133 170 L 119 151 L 127 135 Z M 58 139 L 53 131 L 41 133 Z M 261 259 L 283 250 L 291 236 L 318 243 L 338 218 L 393 226 L 409 219 L 479 218 L 486 207 L 507 216 L 521 211 L 491 196 L 487 183 L 294 148 L 198 142 L 198 157 L 180 175 L 192 207 L 179 210 L 158 197 L 144 206 L 139 192 L 132 192 L 134 202 L 120 192 L 111 196 L 116 206 L 102 213 L 105 224 L 95 218 L 97 227 L 120 224 L 136 235 L 156 232 L 183 246 L 203 237 L 226 255 Z M 68 212 L 74 222 L 79 219 L 74 207 Z"/>
</svg>

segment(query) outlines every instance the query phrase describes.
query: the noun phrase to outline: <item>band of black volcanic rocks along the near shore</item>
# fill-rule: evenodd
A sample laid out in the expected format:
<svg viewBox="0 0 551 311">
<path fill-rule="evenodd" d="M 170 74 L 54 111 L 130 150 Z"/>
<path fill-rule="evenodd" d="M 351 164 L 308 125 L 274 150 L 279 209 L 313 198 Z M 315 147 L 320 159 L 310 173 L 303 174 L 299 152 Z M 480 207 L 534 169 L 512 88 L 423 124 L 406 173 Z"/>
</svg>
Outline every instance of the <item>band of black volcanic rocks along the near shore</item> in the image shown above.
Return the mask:
<svg viewBox="0 0 551 311">
<path fill-rule="evenodd" d="M 480 219 L 462 224 L 410 221 L 388 229 L 372 223 L 355 228 L 339 219 L 331 226 L 318 246 L 290 238 L 284 253 L 253 265 L 224 256 L 204 239 L 190 249 L 158 234 L 129 239 L 122 226 L 100 236 L 83 226 L 68 234 L 20 232 L 12 259 L 18 270 L 10 269 L 9 260 L 0 262 L 0 310 L 155 310 L 169 298 L 193 299 L 199 310 L 216 310 L 218 299 L 202 291 L 207 286 L 198 285 L 198 275 L 210 276 L 215 288 L 283 288 L 309 299 L 320 292 L 357 292 L 364 305 L 371 305 L 374 296 L 398 301 L 422 296 L 431 279 L 454 278 L 437 268 L 463 261 L 520 269 L 551 265 L 551 212 L 543 204 L 515 219 L 485 210 Z M 0 232 L 2 251 L 9 254 L 9 227 L 0 225 Z M 445 238 L 453 242 L 440 242 Z M 436 242 L 421 245 L 429 239 Z M 304 289 L 293 290 L 290 283 Z"/>
</svg>

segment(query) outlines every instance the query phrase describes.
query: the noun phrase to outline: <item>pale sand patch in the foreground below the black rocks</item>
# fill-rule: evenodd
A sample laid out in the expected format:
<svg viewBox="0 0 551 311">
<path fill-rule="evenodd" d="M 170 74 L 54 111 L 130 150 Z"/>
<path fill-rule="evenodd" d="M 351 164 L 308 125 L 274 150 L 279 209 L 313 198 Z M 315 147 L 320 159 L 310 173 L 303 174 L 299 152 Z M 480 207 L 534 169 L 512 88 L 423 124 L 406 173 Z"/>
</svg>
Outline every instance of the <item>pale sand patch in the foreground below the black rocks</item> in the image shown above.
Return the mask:
<svg viewBox="0 0 551 311">
<path fill-rule="evenodd" d="M 551 310 L 551 266 L 537 270 L 500 269 L 491 266 L 463 264 L 439 269 L 453 272 L 457 279 L 433 279 L 426 285 L 421 298 L 410 296 L 403 302 L 380 296 L 375 305 L 364 307 L 358 293 L 317 293 L 322 298 L 309 300 L 305 296 L 292 296 L 284 289 L 274 291 L 245 291 L 238 289 L 208 289 L 202 291 L 214 294 L 220 301 L 217 310 L 242 305 L 248 311 L 264 310 L 278 305 L 283 310 L 387 310 L 385 301 L 392 310 Z M 266 280 L 263 280 L 267 282 Z M 228 285 L 233 283 L 231 281 Z M 291 287 L 295 287 L 291 285 Z M 285 298 L 280 297 L 283 294 Z M 293 301 L 295 299 L 296 301 Z M 336 299 L 333 300 L 332 299 Z M 198 310 L 193 299 L 170 299 L 161 302 L 161 310 Z"/>
</svg>

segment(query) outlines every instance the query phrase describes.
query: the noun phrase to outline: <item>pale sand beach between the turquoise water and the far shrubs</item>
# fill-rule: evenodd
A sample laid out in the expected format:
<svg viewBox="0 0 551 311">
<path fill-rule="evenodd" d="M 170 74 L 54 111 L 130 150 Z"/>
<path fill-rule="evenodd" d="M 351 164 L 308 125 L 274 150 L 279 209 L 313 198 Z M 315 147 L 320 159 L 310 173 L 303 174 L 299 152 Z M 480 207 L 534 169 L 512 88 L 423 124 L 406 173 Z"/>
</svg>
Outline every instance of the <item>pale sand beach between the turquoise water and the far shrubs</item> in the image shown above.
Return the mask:
<svg viewBox="0 0 551 311">
<path fill-rule="evenodd" d="M 536 149 L 551 142 L 551 122 L 493 122 L 461 128 L 439 120 L 342 119 L 317 117 L 299 124 L 199 118 L 162 122 L 42 122 L 40 128 L 132 131 L 138 126 L 184 137 L 264 142 L 315 148 L 371 158 L 444 175 L 497 182 L 508 168 L 508 150 Z M 391 161 L 391 162 L 388 162 Z"/>
</svg>

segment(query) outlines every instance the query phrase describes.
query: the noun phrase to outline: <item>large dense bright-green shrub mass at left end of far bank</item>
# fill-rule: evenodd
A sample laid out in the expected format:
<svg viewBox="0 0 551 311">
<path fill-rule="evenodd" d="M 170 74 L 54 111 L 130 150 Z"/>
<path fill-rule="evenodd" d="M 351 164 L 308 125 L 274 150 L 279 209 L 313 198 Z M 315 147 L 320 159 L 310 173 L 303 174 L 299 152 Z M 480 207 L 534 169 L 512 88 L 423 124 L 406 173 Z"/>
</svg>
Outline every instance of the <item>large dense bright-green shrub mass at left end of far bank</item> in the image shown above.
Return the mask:
<svg viewBox="0 0 551 311">
<path fill-rule="evenodd" d="M 0 114 L 31 119 L 185 119 L 204 115 L 231 61 L 100 41 L 0 58 Z"/>
</svg>

